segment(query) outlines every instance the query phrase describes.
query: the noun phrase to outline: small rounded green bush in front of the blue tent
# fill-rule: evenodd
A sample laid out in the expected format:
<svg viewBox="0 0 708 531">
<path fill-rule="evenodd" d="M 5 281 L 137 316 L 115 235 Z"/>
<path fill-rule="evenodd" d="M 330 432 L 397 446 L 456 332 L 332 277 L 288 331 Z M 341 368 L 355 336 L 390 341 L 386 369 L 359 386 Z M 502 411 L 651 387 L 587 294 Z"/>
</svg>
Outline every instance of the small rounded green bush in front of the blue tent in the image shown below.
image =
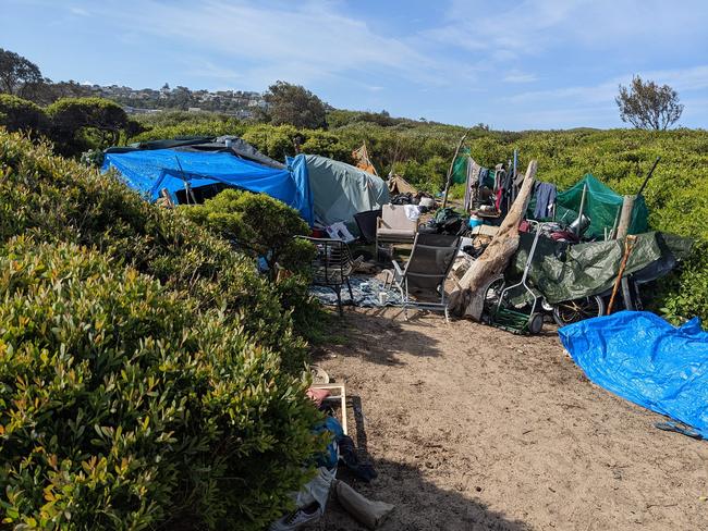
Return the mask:
<svg viewBox="0 0 708 531">
<path fill-rule="evenodd" d="M 254 258 L 263 257 L 271 272 L 276 263 L 306 271 L 314 247 L 297 240 L 309 226 L 298 212 L 265 194 L 225 189 L 204 205 L 181 207 L 187 218 L 228 239 Z"/>
</svg>

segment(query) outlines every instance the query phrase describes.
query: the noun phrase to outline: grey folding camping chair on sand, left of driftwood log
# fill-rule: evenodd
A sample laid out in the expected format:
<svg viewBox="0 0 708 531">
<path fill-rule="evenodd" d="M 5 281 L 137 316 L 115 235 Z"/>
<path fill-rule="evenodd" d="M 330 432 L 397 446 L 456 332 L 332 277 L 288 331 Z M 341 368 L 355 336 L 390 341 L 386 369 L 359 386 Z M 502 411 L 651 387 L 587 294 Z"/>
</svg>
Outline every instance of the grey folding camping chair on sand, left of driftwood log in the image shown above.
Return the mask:
<svg viewBox="0 0 708 531">
<path fill-rule="evenodd" d="M 460 251 L 461 242 L 460 236 L 418 233 L 405 267 L 402 268 L 393 260 L 392 281 L 401 291 L 406 320 L 410 306 L 424 310 L 442 310 L 445 322 L 450 320 L 444 283 Z M 416 300 L 412 300 L 411 295 L 415 295 Z"/>
</svg>

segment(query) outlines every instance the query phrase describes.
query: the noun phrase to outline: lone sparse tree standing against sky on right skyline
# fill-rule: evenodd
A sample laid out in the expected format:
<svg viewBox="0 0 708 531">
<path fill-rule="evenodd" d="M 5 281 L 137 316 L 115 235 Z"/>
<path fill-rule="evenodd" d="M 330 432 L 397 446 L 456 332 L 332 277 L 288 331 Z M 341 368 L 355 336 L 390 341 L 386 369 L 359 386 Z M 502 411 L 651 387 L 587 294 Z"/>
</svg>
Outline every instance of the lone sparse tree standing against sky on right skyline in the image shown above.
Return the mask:
<svg viewBox="0 0 708 531">
<path fill-rule="evenodd" d="M 620 108 L 620 118 L 638 129 L 667 131 L 679 121 L 683 106 L 679 94 L 669 85 L 644 82 L 638 75 L 632 78 L 627 89 L 620 85 L 620 95 L 614 98 Z"/>
</svg>

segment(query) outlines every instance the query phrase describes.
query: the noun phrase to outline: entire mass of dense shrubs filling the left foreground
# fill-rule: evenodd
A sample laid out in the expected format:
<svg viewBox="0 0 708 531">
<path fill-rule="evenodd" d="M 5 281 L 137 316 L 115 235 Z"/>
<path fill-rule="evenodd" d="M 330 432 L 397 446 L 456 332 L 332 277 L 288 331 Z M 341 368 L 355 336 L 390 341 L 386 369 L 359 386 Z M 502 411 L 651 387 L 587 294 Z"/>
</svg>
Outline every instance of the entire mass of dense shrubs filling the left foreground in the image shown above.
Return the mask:
<svg viewBox="0 0 708 531">
<path fill-rule="evenodd" d="M 277 518 L 319 444 L 302 279 L 269 282 L 180 211 L 1 131 L 0 176 L 3 524 Z"/>
</svg>

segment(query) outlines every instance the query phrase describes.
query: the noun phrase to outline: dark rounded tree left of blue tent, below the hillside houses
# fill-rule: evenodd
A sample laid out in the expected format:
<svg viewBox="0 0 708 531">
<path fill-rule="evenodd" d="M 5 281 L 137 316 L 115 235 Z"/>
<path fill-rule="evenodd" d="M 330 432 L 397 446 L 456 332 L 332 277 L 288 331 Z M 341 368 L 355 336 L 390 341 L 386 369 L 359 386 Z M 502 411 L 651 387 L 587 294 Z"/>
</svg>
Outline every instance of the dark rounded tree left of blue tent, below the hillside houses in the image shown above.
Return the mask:
<svg viewBox="0 0 708 531">
<path fill-rule="evenodd" d="M 129 126 L 123 108 L 101 98 L 62 98 L 47 108 L 47 114 L 52 121 L 52 136 L 64 155 L 115 145 L 121 131 Z"/>
</svg>

